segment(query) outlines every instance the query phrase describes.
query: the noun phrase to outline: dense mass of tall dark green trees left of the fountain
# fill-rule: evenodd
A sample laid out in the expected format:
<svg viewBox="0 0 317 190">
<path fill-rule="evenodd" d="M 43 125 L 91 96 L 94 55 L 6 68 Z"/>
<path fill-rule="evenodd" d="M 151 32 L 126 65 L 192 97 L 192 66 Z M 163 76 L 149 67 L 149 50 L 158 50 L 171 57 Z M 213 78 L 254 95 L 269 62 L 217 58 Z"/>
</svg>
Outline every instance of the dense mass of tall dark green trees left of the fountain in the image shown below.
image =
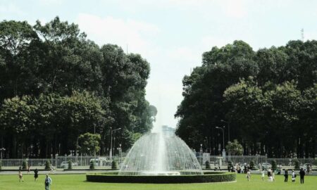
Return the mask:
<svg viewBox="0 0 317 190">
<path fill-rule="evenodd" d="M 10 158 L 79 150 L 78 137 L 100 134 L 100 153 L 130 148 L 152 127 L 144 98 L 149 63 L 119 46 L 99 47 L 58 17 L 42 25 L 0 23 L 0 145 Z"/>
</svg>

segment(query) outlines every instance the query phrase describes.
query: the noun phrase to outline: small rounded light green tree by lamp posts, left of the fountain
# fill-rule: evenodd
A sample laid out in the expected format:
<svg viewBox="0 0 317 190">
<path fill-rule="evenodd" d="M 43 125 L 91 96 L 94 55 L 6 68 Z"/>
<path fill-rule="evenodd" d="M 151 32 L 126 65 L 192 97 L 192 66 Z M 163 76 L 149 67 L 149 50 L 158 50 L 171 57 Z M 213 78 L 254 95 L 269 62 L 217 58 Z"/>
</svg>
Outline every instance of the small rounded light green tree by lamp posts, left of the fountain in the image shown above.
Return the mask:
<svg viewBox="0 0 317 190">
<path fill-rule="evenodd" d="M 89 132 L 85 134 L 80 134 L 80 137 L 78 137 L 80 153 L 87 155 L 96 155 L 96 153 L 100 150 L 100 140 L 100 134 L 91 134 Z"/>
</svg>

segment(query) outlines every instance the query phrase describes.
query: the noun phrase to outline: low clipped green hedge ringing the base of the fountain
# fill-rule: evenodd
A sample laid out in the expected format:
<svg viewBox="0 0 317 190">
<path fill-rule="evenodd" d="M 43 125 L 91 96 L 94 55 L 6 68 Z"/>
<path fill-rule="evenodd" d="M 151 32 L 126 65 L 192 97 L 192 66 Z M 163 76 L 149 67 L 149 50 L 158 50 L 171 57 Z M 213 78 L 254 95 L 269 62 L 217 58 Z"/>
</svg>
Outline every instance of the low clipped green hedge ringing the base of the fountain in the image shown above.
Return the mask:
<svg viewBox="0 0 317 190">
<path fill-rule="evenodd" d="M 209 183 L 233 182 L 236 180 L 235 172 L 213 173 L 205 175 L 112 175 L 87 174 L 87 182 L 105 183 L 144 183 L 144 184 L 182 184 L 182 183 Z"/>
</svg>

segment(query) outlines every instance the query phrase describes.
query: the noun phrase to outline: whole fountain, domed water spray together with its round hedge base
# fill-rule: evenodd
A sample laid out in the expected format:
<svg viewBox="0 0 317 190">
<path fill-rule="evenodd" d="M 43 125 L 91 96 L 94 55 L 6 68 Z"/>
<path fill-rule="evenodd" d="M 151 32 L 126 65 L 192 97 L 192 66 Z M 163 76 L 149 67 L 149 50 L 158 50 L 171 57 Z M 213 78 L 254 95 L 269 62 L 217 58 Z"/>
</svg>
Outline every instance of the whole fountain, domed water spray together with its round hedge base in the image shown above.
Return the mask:
<svg viewBox="0 0 317 190">
<path fill-rule="evenodd" d="M 87 182 L 106 183 L 206 183 L 232 182 L 232 172 L 203 172 L 182 139 L 154 127 L 139 138 L 125 157 L 120 170 L 87 174 Z"/>
</svg>

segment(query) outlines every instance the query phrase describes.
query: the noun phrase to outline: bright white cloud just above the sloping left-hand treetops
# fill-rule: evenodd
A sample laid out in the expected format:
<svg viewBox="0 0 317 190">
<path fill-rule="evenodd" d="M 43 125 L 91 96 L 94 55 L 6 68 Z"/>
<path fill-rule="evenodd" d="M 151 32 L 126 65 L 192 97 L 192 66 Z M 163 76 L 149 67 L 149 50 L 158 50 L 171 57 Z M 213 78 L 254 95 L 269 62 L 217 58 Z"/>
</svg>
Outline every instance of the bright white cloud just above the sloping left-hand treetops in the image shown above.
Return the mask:
<svg viewBox="0 0 317 190">
<path fill-rule="evenodd" d="M 159 27 L 137 20 L 123 20 L 106 16 L 80 14 L 76 23 L 80 29 L 87 33 L 89 39 L 95 40 L 99 45 L 118 44 L 128 48 L 134 53 L 150 53 L 148 38 L 159 33 Z"/>
</svg>

